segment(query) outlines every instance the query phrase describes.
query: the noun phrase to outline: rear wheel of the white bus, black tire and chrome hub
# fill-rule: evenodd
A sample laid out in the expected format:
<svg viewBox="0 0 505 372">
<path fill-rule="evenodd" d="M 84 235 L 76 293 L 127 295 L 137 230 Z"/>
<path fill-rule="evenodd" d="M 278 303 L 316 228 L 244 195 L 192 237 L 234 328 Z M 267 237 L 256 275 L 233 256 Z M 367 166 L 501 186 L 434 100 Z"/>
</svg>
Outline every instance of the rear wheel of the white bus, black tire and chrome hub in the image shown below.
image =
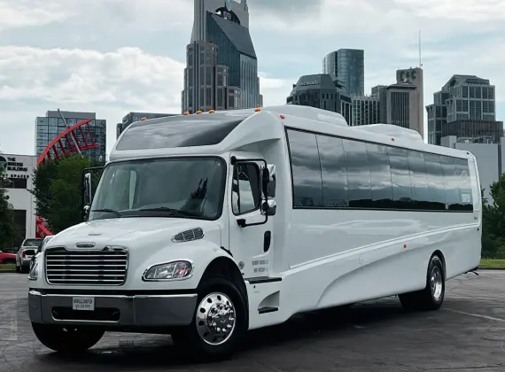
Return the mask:
<svg viewBox="0 0 505 372">
<path fill-rule="evenodd" d="M 446 273 L 438 255 L 431 256 L 426 272 L 426 287 L 421 291 L 401 294 L 401 306 L 408 310 L 439 310 L 446 294 Z"/>
</svg>

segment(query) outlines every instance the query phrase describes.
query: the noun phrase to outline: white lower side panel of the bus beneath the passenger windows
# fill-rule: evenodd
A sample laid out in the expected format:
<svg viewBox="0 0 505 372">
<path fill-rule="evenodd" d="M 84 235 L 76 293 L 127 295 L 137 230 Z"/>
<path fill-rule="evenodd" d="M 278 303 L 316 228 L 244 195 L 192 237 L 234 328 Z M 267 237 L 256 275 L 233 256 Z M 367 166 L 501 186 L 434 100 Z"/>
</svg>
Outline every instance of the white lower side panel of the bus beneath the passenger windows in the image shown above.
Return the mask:
<svg viewBox="0 0 505 372">
<path fill-rule="evenodd" d="M 435 251 L 450 277 L 480 254 L 473 213 L 294 210 L 292 218 L 287 246 L 297 263 L 283 280 L 291 314 L 420 290 Z"/>
</svg>

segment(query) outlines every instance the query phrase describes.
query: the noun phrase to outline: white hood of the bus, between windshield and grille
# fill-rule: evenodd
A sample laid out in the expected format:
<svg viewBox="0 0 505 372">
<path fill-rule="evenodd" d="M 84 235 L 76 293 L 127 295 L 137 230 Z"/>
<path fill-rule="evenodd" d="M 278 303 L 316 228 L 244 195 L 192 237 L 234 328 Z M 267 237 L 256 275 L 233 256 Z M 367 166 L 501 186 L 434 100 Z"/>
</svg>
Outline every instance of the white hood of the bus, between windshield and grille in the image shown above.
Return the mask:
<svg viewBox="0 0 505 372">
<path fill-rule="evenodd" d="M 125 246 L 129 250 L 164 247 L 172 243 L 172 236 L 190 229 L 204 230 L 205 239 L 221 245 L 221 226 L 217 221 L 202 221 L 171 217 L 135 217 L 82 222 L 60 232 L 51 239 L 51 246 L 79 249 L 75 244 L 91 243 L 95 248 Z"/>
</svg>

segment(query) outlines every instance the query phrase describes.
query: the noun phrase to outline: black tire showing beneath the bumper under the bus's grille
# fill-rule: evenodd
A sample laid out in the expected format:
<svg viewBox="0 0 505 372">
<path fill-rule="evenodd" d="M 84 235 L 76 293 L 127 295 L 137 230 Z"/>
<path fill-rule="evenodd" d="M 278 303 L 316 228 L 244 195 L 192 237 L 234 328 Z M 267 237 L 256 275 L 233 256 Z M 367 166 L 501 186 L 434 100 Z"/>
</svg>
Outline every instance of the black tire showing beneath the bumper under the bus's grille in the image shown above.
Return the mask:
<svg viewBox="0 0 505 372">
<path fill-rule="evenodd" d="M 105 331 L 94 327 L 56 326 L 33 323 L 35 336 L 42 345 L 58 353 L 83 353 L 97 345 Z"/>
</svg>

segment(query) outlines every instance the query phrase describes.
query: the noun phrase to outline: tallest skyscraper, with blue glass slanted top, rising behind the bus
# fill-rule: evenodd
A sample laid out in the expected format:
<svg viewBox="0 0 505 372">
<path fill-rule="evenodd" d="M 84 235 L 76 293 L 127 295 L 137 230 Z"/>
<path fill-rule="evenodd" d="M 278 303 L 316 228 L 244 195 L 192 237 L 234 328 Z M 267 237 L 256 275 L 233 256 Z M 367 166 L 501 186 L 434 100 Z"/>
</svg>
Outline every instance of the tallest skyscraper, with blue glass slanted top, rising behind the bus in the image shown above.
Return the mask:
<svg viewBox="0 0 505 372">
<path fill-rule="evenodd" d="M 246 0 L 195 0 L 194 6 L 183 112 L 258 107 L 258 60 Z"/>
</svg>

